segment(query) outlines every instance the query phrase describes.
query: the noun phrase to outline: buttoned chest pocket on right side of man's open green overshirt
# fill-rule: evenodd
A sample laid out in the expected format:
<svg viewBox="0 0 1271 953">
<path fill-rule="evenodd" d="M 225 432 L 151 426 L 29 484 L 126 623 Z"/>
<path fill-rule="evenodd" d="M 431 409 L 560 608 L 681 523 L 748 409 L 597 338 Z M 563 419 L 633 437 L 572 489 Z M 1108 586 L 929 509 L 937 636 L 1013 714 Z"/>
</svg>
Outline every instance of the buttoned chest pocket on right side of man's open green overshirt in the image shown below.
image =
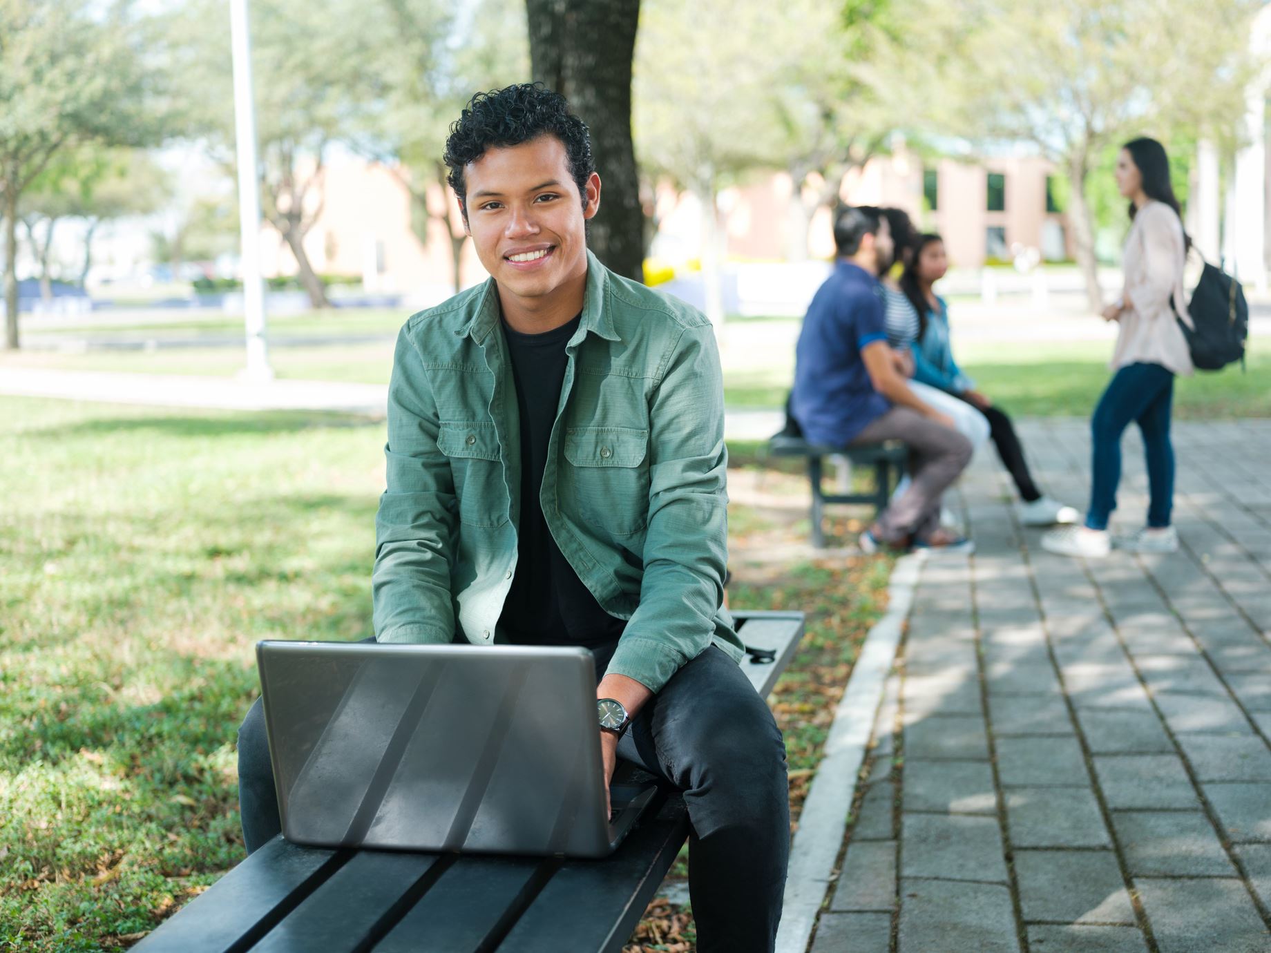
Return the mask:
<svg viewBox="0 0 1271 953">
<path fill-rule="evenodd" d="M 644 529 L 648 517 L 648 431 L 571 427 L 564 435 L 571 494 L 578 516 L 615 536 Z"/>
</svg>

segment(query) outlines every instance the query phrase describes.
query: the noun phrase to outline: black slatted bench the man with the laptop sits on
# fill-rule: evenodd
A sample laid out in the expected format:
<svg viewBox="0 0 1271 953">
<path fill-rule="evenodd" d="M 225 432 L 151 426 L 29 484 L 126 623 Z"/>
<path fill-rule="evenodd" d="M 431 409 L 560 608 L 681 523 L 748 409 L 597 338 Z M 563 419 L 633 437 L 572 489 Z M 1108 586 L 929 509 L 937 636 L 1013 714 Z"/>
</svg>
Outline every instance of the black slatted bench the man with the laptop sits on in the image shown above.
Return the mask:
<svg viewBox="0 0 1271 953">
<path fill-rule="evenodd" d="M 733 612 L 765 698 L 803 635 L 802 612 Z M 648 779 L 619 762 L 615 783 Z M 619 953 L 689 820 L 661 789 L 602 860 L 319 850 L 281 836 L 133 947 L 142 953 Z"/>
</svg>

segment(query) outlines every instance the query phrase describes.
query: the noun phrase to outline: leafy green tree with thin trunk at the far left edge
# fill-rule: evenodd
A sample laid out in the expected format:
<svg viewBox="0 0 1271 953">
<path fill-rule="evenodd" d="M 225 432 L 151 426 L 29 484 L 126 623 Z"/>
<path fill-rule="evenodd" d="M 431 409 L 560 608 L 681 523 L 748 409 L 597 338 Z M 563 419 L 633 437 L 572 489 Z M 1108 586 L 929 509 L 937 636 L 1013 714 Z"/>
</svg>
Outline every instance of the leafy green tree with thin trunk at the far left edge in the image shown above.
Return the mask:
<svg viewBox="0 0 1271 953">
<path fill-rule="evenodd" d="M 0 0 L 5 347 L 18 347 L 22 196 L 64 150 L 147 145 L 172 130 L 156 22 L 132 5 Z"/>
</svg>

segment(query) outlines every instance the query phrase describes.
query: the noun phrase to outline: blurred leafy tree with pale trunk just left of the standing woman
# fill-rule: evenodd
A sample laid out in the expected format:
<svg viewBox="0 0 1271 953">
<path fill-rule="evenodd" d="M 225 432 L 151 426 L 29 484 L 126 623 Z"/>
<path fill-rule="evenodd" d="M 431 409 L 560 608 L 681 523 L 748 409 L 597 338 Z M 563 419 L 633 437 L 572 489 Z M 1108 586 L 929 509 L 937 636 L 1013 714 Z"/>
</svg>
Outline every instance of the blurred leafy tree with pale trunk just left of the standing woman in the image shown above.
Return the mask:
<svg viewBox="0 0 1271 953">
<path fill-rule="evenodd" d="M 1065 172 L 1077 257 L 1098 306 L 1092 201 L 1101 199 L 1092 170 L 1136 135 L 1176 155 L 1199 136 L 1229 139 L 1258 66 L 1246 47 L 1258 8 L 1256 0 L 915 0 L 910 23 L 932 51 L 927 118 L 981 144 L 1033 142 Z"/>
</svg>

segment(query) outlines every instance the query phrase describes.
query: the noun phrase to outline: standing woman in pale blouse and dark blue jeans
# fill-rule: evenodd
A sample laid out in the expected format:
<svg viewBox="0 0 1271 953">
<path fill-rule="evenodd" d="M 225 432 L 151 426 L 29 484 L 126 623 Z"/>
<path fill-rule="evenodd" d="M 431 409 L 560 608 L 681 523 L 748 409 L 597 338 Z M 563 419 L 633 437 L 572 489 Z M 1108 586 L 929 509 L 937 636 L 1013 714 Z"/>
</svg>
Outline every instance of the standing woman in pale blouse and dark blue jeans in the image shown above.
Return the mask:
<svg viewBox="0 0 1271 953">
<path fill-rule="evenodd" d="M 1183 300 L 1183 262 L 1191 245 L 1169 184 L 1169 159 L 1154 139 L 1126 142 L 1116 164 L 1116 184 L 1130 199 L 1134 225 L 1125 243 L 1125 290 L 1103 318 L 1118 321 L 1112 367 L 1116 374 L 1091 419 L 1093 473 L 1085 525 L 1052 530 L 1041 544 L 1051 553 L 1106 557 L 1112 548 L 1108 520 L 1121 479 L 1121 433 L 1135 422 L 1143 433 L 1150 504 L 1148 525 L 1117 545 L 1139 553 L 1173 553 L 1178 534 L 1169 522 L 1174 496 L 1174 450 L 1169 417 L 1174 376 L 1191 375 L 1192 362 L 1176 313 L 1190 321 Z"/>
</svg>

